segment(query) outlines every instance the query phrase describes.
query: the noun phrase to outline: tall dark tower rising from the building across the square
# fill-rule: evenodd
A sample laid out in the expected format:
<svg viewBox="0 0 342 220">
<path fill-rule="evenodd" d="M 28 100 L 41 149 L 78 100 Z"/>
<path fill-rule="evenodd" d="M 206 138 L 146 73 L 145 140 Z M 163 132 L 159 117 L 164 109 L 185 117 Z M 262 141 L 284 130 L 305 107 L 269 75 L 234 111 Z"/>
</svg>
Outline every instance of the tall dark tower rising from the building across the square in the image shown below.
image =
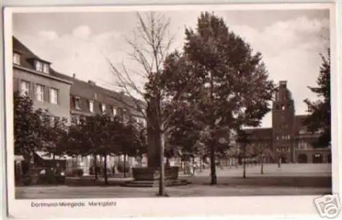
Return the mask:
<svg viewBox="0 0 342 220">
<path fill-rule="evenodd" d="M 274 158 L 293 162 L 295 106 L 287 81 L 280 81 L 272 105 Z"/>
</svg>

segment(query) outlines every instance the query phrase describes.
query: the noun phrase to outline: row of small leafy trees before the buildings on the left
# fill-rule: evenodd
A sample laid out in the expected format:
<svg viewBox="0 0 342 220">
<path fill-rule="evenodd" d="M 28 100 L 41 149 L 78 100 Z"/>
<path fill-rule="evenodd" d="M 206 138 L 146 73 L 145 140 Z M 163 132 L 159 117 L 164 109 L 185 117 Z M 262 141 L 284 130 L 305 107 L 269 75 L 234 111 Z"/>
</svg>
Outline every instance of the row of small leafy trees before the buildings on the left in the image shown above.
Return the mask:
<svg viewBox="0 0 342 220">
<path fill-rule="evenodd" d="M 107 114 L 69 123 L 66 118 L 51 117 L 48 111 L 35 110 L 29 97 L 14 93 L 14 153 L 33 160 L 35 151 L 45 151 L 53 160 L 65 155 L 101 156 L 107 184 L 107 156 L 146 154 L 146 130 L 133 119 L 122 121 Z"/>
</svg>

